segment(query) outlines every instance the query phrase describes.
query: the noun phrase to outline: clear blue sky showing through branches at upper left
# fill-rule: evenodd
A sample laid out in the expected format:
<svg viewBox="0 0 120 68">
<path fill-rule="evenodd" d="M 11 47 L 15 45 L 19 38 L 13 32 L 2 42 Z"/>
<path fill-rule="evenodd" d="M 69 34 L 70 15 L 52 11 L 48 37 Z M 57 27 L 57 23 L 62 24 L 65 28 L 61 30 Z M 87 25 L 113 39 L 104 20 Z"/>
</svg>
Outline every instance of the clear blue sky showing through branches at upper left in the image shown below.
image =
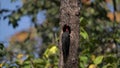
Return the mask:
<svg viewBox="0 0 120 68">
<path fill-rule="evenodd" d="M 0 9 L 9 9 L 9 10 L 17 10 L 16 6 L 22 7 L 21 0 L 16 0 L 16 2 L 11 3 L 11 0 L 0 0 Z M 25 30 L 30 28 L 31 19 L 29 16 L 21 17 L 21 20 L 18 21 L 19 26 L 17 28 L 13 28 L 12 25 L 8 25 L 9 19 L 3 19 L 3 16 L 9 15 L 8 13 L 0 14 L 0 43 L 8 43 L 8 39 L 10 36 L 14 35 L 16 32 Z M 45 20 L 45 11 L 41 11 L 37 15 L 38 23 L 42 23 Z"/>
</svg>

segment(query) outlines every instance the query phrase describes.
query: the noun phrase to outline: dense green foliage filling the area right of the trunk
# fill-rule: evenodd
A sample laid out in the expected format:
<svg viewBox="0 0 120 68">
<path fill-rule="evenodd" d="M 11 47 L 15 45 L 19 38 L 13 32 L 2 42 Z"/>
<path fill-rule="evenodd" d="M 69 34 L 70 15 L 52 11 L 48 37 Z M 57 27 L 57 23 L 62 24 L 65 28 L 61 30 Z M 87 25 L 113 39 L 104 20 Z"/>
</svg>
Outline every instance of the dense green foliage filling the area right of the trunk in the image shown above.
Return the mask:
<svg viewBox="0 0 120 68">
<path fill-rule="evenodd" d="M 120 36 L 118 30 L 120 24 L 108 19 L 109 11 L 104 8 L 105 6 L 104 1 L 94 1 L 82 6 L 80 24 L 81 32 L 83 33 L 84 29 L 85 34 L 81 35 L 80 41 L 80 68 L 117 68 L 119 66 L 119 60 L 116 60 L 119 56 L 116 52 L 120 42 L 116 39 Z M 84 36 L 89 39 L 85 39 Z"/>
</svg>

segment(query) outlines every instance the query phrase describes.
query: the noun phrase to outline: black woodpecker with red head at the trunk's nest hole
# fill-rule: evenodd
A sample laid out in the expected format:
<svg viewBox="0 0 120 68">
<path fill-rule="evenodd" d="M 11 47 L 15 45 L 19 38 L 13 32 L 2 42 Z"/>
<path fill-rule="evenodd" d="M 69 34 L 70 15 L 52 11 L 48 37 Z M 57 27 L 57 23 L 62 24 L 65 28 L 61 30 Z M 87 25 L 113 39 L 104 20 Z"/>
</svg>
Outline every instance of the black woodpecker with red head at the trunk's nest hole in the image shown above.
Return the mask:
<svg viewBox="0 0 120 68">
<path fill-rule="evenodd" d="M 70 27 L 68 25 L 64 25 L 63 26 L 63 34 L 62 34 L 62 51 L 63 51 L 64 63 L 67 61 L 67 58 L 69 55 L 70 32 L 71 32 Z"/>
</svg>

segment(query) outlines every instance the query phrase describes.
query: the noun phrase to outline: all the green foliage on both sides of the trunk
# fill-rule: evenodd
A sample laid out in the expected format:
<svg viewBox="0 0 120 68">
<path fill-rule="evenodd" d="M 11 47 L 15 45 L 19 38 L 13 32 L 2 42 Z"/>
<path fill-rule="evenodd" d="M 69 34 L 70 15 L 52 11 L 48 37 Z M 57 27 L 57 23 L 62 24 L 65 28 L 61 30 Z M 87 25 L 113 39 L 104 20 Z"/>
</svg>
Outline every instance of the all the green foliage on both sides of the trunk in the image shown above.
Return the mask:
<svg viewBox="0 0 120 68">
<path fill-rule="evenodd" d="M 80 68 L 119 68 L 120 56 L 117 55 L 117 46 L 120 44 L 120 24 L 114 20 L 114 13 L 107 7 L 109 0 L 81 0 L 80 17 L 80 47 L 79 47 L 79 67 Z M 31 16 L 31 21 L 37 29 L 38 37 L 43 39 L 40 47 L 39 58 L 35 58 L 33 52 L 36 40 L 27 40 L 22 43 L 14 43 L 8 50 L 9 53 L 18 51 L 14 57 L 15 61 L 0 63 L 0 67 L 22 67 L 22 68 L 57 68 L 59 51 L 56 46 L 58 35 L 58 0 L 22 0 L 23 6 L 12 15 L 8 16 L 10 24 L 17 27 L 17 21 L 24 15 Z M 119 0 L 117 0 L 119 4 Z M 119 7 L 119 5 L 117 5 Z M 46 12 L 46 20 L 43 24 L 37 24 L 36 15 L 39 11 Z M 119 11 L 119 10 L 118 10 Z M 109 12 L 112 13 L 109 15 Z M 111 19 L 113 18 L 113 20 Z M 26 53 L 24 53 L 24 51 Z M 14 53 L 13 51 L 12 53 Z M 20 52 L 20 53 L 19 53 Z M 36 51 L 35 51 L 36 52 Z M 10 61 L 10 60 L 9 60 Z"/>
</svg>

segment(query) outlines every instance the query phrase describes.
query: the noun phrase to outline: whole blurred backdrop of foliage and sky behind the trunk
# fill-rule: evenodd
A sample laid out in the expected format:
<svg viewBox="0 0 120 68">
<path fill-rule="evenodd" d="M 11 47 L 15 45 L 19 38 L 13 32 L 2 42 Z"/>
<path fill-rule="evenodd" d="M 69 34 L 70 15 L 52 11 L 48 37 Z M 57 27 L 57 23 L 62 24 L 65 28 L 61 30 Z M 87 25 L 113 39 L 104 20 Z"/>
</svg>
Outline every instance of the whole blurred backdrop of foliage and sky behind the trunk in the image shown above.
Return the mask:
<svg viewBox="0 0 120 68">
<path fill-rule="evenodd" d="M 79 67 L 120 68 L 120 0 L 80 1 Z M 0 0 L 0 68 L 58 68 L 59 7 Z"/>
</svg>

